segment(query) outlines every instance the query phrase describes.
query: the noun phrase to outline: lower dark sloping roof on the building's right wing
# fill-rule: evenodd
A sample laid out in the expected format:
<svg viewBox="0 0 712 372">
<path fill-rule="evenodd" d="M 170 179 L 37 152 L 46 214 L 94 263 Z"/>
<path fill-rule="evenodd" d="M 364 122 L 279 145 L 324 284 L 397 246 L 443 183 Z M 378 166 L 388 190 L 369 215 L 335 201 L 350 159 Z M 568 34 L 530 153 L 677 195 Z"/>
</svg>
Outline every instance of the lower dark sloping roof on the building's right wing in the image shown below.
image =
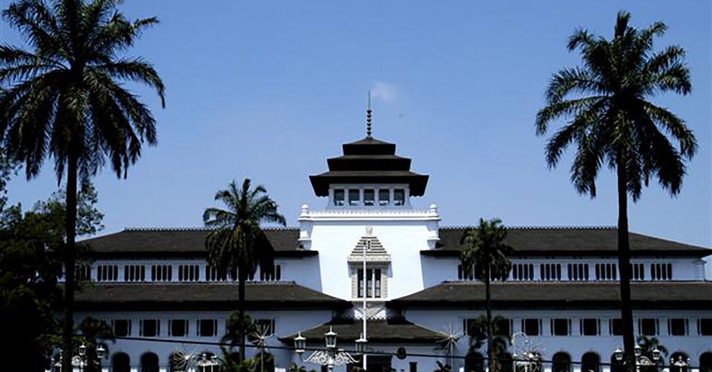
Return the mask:
<svg viewBox="0 0 712 372">
<path fill-rule="evenodd" d="M 491 286 L 493 306 L 535 309 L 538 307 L 616 307 L 620 302 L 617 281 L 612 282 L 503 282 Z M 631 284 L 634 306 L 656 308 L 685 306 L 712 309 L 711 281 L 667 281 Z M 485 286 L 480 281 L 445 281 L 409 296 L 387 302 L 396 308 L 466 306 L 481 307 Z"/>
</svg>

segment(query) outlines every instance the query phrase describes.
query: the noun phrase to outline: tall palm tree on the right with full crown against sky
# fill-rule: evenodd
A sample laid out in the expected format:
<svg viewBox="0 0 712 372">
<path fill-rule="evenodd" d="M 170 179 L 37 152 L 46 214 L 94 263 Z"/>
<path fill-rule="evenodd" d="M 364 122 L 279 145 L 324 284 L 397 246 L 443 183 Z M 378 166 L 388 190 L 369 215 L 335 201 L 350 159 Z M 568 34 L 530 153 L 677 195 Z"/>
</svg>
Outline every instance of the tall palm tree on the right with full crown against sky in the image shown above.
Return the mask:
<svg viewBox="0 0 712 372">
<path fill-rule="evenodd" d="M 669 46 L 654 52 L 653 39 L 666 31 L 656 22 L 647 29 L 628 25 L 630 14 L 619 12 L 614 37 L 607 40 L 579 29 L 569 38 L 569 51 L 580 51 L 583 66 L 553 75 L 546 107 L 536 118 L 536 133 L 544 135 L 558 118 L 570 118 L 548 140 L 546 161 L 555 167 L 568 145 L 575 144 L 571 181 L 577 192 L 596 196 L 602 165 L 616 170 L 618 190 L 618 265 L 626 360 L 634 358 L 633 310 L 630 301 L 628 194 L 634 202 L 642 185 L 656 176 L 671 195 L 680 192 L 684 160 L 697 149 L 692 130 L 666 108 L 650 102 L 657 93 L 691 91 L 685 51 Z M 670 139 L 679 143 L 679 148 Z"/>
</svg>

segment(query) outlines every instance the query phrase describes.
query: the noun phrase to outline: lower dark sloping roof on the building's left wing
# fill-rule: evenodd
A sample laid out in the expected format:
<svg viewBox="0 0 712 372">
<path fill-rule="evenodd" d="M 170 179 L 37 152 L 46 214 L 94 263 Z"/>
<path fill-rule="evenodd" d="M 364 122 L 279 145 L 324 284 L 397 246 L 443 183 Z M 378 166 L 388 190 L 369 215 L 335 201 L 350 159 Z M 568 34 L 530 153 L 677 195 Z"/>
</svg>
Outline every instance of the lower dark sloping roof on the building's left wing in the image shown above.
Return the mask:
<svg viewBox="0 0 712 372">
<path fill-rule="evenodd" d="M 79 309 L 235 309 L 237 282 L 90 284 L 75 296 Z M 349 301 L 293 282 L 248 282 L 247 309 L 347 309 Z"/>
</svg>

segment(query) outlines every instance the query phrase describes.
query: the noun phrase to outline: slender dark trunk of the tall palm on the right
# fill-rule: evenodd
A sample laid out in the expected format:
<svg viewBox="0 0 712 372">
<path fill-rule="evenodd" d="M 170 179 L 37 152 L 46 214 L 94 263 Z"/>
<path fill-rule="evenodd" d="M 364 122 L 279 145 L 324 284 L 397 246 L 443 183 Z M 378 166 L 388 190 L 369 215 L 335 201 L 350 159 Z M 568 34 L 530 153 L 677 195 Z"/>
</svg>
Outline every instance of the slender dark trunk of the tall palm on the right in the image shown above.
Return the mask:
<svg viewBox="0 0 712 372">
<path fill-rule="evenodd" d="M 630 243 L 628 237 L 628 192 L 625 161 L 619 155 L 617 161 L 618 182 L 618 269 L 621 290 L 621 318 L 623 321 L 624 360 L 628 370 L 635 371 L 635 339 L 633 331 L 633 306 L 630 299 Z"/>
</svg>

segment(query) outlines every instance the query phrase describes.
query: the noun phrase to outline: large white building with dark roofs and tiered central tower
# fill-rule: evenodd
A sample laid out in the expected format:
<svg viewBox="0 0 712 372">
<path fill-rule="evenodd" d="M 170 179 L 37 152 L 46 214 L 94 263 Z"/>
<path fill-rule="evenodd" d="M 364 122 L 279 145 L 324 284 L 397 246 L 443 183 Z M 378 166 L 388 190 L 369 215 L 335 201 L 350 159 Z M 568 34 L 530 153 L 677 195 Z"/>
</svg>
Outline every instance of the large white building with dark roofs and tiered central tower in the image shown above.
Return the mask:
<svg viewBox="0 0 712 372">
<path fill-rule="evenodd" d="M 468 336 L 456 340 L 447 360 L 439 347 L 484 313 L 484 290 L 459 266 L 465 227 L 442 227 L 435 205 L 411 206 L 428 176 L 412 172 L 410 162 L 371 136 L 347 143 L 342 156 L 328 159 L 328 172 L 310 177 L 325 206 L 304 205 L 299 227 L 267 230 L 276 267 L 254 275 L 246 299 L 248 314 L 271 327 L 268 352 L 277 367 L 303 364 L 290 350 L 298 332 L 320 347 L 333 328 L 341 347 L 354 347 L 362 330 L 362 257 L 370 247 L 368 369 L 430 372 L 443 361 L 456 371 L 481 371 L 486 351 L 470 350 Z M 494 314 L 508 320 L 510 334 L 527 334 L 546 361 L 556 361 L 543 372 L 610 371 L 612 353 L 622 347 L 616 229 L 508 232 L 513 270 L 493 283 Z M 104 362 L 110 371 L 171 371 L 175 351 L 219 353 L 211 343 L 224 334 L 237 285 L 206 265 L 205 236 L 202 229 L 125 229 L 85 241 L 93 262 L 82 274 L 92 283 L 76 296 L 76 317 L 114 327 L 119 339 L 108 344 Z M 667 358 L 684 356 L 711 371 L 712 282 L 704 279 L 703 257 L 712 250 L 634 233 L 630 244 L 637 334 L 659 339 L 674 354 Z M 405 358 L 393 356 L 400 347 Z"/>
</svg>

